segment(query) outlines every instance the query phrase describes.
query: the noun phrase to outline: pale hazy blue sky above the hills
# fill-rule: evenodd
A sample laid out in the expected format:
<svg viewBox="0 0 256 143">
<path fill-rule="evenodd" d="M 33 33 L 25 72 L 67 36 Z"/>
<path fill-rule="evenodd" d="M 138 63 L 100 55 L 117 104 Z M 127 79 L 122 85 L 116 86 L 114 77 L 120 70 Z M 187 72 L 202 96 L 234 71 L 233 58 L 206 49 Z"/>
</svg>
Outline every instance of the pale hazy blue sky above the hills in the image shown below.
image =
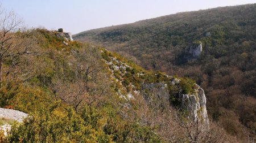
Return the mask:
<svg viewBox="0 0 256 143">
<path fill-rule="evenodd" d="M 1 3 L 6 11 L 14 11 L 22 18 L 27 27 L 63 28 L 76 34 L 177 12 L 256 3 L 256 0 L 2 0 Z"/>
</svg>

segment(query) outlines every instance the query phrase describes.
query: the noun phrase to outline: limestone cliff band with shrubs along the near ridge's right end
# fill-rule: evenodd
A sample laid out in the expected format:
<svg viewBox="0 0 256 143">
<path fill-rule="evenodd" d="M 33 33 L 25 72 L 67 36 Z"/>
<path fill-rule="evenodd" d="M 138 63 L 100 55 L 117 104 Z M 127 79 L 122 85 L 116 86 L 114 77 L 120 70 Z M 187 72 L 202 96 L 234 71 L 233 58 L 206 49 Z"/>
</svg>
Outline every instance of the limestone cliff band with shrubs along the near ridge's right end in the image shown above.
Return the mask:
<svg viewBox="0 0 256 143">
<path fill-rule="evenodd" d="M 106 54 L 107 51 L 102 50 L 101 53 Z M 113 83 L 117 84 L 115 90 L 120 98 L 126 99 L 128 105 L 130 100 L 142 96 L 144 101 L 150 102 L 152 106 L 181 107 L 192 114 L 193 120 L 199 119 L 209 123 L 206 97 L 199 85 L 187 83 L 182 78 L 142 71 L 112 55 L 105 57 L 104 61 L 109 67 Z M 191 88 L 186 94 L 183 91 L 184 83 Z"/>
</svg>

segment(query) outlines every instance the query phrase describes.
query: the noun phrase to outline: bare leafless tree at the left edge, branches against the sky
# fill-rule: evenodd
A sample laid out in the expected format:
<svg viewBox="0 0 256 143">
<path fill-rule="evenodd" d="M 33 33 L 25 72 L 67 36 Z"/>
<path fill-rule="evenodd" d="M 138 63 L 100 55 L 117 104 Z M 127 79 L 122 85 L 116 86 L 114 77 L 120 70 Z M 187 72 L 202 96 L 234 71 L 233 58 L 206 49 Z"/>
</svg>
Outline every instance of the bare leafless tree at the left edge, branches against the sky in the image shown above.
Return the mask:
<svg viewBox="0 0 256 143">
<path fill-rule="evenodd" d="M 0 11 L 0 87 L 2 85 L 3 63 L 8 60 L 10 67 L 16 66 L 17 60 L 30 54 L 31 45 L 22 19 L 14 12 Z"/>
</svg>

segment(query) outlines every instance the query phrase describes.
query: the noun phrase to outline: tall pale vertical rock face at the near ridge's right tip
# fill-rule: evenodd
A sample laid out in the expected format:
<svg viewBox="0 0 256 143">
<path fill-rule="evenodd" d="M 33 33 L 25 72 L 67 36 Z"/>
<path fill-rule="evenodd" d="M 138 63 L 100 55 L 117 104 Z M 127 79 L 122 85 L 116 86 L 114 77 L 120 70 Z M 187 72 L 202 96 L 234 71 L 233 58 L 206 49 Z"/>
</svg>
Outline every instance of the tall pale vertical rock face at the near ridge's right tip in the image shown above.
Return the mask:
<svg viewBox="0 0 256 143">
<path fill-rule="evenodd" d="M 205 123 L 209 124 L 209 119 L 206 109 L 206 97 L 204 90 L 200 88 L 199 85 L 195 84 L 196 93 L 192 95 L 180 94 L 181 107 L 188 111 L 191 111 L 193 119 L 203 120 Z"/>
</svg>

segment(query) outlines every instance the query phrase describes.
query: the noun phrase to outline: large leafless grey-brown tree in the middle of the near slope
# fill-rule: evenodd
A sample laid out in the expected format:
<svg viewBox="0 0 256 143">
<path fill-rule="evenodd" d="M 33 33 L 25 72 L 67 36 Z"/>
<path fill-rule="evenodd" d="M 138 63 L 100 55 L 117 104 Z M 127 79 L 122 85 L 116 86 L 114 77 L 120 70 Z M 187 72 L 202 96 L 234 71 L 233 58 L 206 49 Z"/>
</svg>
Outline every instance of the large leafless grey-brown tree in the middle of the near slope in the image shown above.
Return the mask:
<svg viewBox="0 0 256 143">
<path fill-rule="evenodd" d="M 84 103 L 100 106 L 106 102 L 110 82 L 97 47 L 85 44 L 68 56 L 60 53 L 55 58 L 55 72 L 51 85 L 55 96 L 75 111 Z"/>
</svg>

